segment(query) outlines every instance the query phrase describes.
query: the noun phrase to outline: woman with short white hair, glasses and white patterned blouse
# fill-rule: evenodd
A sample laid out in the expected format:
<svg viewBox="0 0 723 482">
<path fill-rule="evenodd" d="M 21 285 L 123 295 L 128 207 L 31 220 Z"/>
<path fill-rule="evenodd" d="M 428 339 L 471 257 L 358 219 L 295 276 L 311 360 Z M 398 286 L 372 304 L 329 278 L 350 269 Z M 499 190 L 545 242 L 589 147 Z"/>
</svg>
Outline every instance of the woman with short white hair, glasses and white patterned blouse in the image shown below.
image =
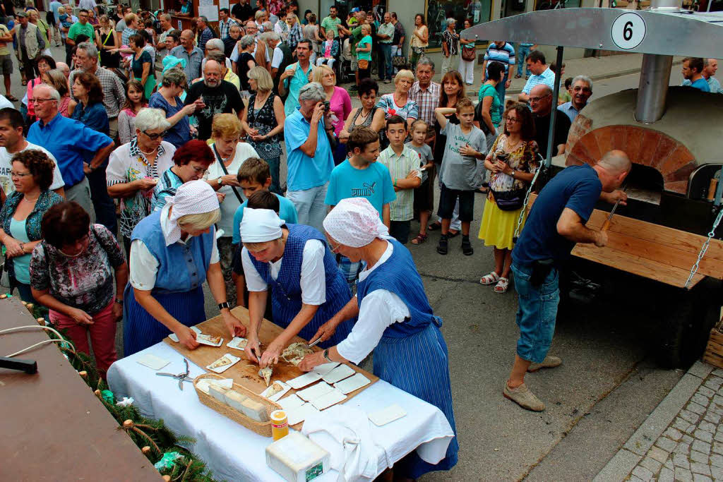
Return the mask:
<svg viewBox="0 0 723 482">
<path fill-rule="evenodd" d="M 111 152 L 108 160 L 108 194 L 121 200 L 120 231 L 127 254 L 133 228 L 152 211 L 158 177 L 174 165 L 176 147 L 163 140 L 169 126 L 161 109 L 141 109 L 135 116 L 135 137 Z"/>
</svg>

